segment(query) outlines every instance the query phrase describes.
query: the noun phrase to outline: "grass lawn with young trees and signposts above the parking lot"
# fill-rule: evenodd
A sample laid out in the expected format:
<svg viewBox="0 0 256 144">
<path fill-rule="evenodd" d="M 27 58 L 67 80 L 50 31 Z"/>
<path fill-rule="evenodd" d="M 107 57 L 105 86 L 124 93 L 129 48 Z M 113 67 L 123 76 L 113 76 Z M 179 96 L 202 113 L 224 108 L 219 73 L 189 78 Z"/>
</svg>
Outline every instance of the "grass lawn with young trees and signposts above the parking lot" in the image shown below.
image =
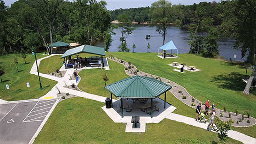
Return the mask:
<svg viewBox="0 0 256 144">
<path fill-rule="evenodd" d="M 46 57 L 42 53 L 37 53 L 37 59 Z M 41 77 L 42 87 L 40 90 L 38 76 L 30 74 L 29 71 L 35 62 L 35 56 L 28 54 L 26 58 L 27 64 L 24 63 L 24 59 L 19 57 L 18 68 L 20 72 L 17 72 L 16 65 L 14 63 L 13 54 L 0 56 L 0 64 L 3 66 L 5 74 L 2 76 L 3 82 L 0 82 L 0 99 L 7 101 L 17 101 L 30 99 L 29 90 L 26 86 L 26 82 L 30 84 L 31 99 L 36 99 L 44 94 L 48 93 L 51 88 L 57 84 L 56 81 L 51 79 L 45 79 Z M 9 85 L 11 100 L 9 100 L 6 84 Z"/>
</svg>

